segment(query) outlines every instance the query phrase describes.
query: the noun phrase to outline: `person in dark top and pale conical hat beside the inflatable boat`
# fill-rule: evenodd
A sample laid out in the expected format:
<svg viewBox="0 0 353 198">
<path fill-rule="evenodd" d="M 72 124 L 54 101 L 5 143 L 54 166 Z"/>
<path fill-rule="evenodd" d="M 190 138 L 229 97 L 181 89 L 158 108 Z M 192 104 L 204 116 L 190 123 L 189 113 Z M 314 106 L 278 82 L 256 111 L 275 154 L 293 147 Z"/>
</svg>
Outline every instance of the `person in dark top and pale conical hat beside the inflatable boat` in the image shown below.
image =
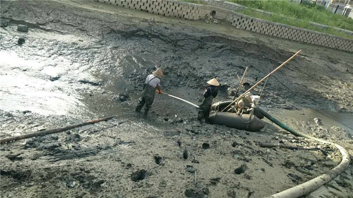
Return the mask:
<svg viewBox="0 0 353 198">
<path fill-rule="evenodd" d="M 218 94 L 217 87 L 219 86 L 219 83 L 215 78 L 208 81 L 207 84 L 208 85 L 203 93 L 204 100 L 200 105 L 200 110 L 198 114 L 198 120 L 202 121 L 202 119 L 204 118 L 206 123 L 208 122 L 208 116 L 211 111 L 213 98 L 215 98 Z"/>
</svg>

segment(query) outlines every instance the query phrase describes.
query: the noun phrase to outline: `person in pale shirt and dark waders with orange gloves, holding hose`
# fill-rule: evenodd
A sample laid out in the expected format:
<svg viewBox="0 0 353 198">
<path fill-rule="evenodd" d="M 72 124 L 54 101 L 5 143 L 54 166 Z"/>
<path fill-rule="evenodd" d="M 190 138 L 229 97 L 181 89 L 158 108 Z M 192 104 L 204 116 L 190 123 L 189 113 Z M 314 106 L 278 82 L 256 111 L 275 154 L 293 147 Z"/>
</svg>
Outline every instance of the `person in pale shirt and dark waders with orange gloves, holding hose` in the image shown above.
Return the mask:
<svg viewBox="0 0 353 198">
<path fill-rule="evenodd" d="M 157 70 L 153 71 L 152 74 L 147 76 L 144 84 L 144 90 L 135 109 L 136 112 L 140 112 L 140 110 L 145 105 L 145 115 L 147 115 L 154 101 L 155 90 L 158 89 L 159 94 L 163 93 L 160 88 L 160 79 L 162 77 L 163 71 L 160 67 L 158 67 Z"/>
</svg>

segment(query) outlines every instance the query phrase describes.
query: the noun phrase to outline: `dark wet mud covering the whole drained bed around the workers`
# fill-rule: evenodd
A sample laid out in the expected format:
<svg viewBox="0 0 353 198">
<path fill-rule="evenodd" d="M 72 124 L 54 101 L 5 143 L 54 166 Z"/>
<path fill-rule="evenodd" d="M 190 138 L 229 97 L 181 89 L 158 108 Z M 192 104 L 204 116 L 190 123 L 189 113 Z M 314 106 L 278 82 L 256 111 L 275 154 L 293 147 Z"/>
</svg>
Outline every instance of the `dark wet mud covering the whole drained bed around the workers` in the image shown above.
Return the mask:
<svg viewBox="0 0 353 198">
<path fill-rule="evenodd" d="M 91 1 L 0 4 L 0 138 L 117 115 L 0 145 L 1 198 L 260 198 L 319 176 L 341 160 L 335 148 L 269 122 L 260 132 L 200 124 L 196 109 L 165 95 L 156 95 L 147 118 L 133 110 L 145 77 L 158 66 L 165 74 L 162 89 L 196 104 L 205 82 L 217 77 L 216 102 L 234 97 L 246 66 L 241 91 L 303 49 L 274 77 L 353 127 L 352 54 L 261 37 L 226 22 L 168 20 Z M 17 24 L 29 31 L 17 31 Z M 25 43 L 18 44 L 19 38 Z M 274 77 L 264 89 L 263 109 L 353 154 L 349 128 L 306 109 L 311 107 Z M 262 86 L 252 93 L 260 94 Z M 308 197 L 352 198 L 352 191 L 350 166 Z"/>
</svg>

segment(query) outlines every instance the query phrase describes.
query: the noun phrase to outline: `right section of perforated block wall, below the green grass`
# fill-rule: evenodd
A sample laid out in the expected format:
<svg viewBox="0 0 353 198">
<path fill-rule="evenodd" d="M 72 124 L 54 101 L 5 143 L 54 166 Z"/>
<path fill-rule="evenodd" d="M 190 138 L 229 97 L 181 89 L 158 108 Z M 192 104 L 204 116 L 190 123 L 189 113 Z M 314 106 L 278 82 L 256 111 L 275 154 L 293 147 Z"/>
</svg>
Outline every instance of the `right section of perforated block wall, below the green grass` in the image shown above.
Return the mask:
<svg viewBox="0 0 353 198">
<path fill-rule="evenodd" d="M 232 11 L 229 11 L 227 21 L 239 29 L 353 53 L 353 40 L 350 39 L 252 18 Z"/>
</svg>

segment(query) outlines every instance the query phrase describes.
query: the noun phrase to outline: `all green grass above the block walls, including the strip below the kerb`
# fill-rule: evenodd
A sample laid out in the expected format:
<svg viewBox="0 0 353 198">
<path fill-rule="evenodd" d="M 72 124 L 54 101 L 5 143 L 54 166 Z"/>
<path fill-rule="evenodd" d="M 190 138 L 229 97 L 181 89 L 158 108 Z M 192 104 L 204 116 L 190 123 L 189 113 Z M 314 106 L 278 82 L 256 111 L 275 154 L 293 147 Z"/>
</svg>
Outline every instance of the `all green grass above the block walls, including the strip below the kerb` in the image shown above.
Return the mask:
<svg viewBox="0 0 353 198">
<path fill-rule="evenodd" d="M 181 0 L 184 2 L 204 4 L 203 0 Z M 338 27 L 353 31 L 353 19 L 328 12 L 325 7 L 312 3 L 295 4 L 286 0 L 227 0 L 237 4 L 245 5 L 248 8 L 260 9 L 273 12 L 277 15 L 266 15 L 255 12 L 251 9 L 238 11 L 250 17 L 259 18 L 271 22 L 292 25 L 304 29 L 318 31 L 326 34 L 336 35 L 348 39 L 353 39 L 352 35 L 333 28 L 325 29 L 311 25 L 309 22 L 317 22 L 332 27 Z"/>
</svg>

